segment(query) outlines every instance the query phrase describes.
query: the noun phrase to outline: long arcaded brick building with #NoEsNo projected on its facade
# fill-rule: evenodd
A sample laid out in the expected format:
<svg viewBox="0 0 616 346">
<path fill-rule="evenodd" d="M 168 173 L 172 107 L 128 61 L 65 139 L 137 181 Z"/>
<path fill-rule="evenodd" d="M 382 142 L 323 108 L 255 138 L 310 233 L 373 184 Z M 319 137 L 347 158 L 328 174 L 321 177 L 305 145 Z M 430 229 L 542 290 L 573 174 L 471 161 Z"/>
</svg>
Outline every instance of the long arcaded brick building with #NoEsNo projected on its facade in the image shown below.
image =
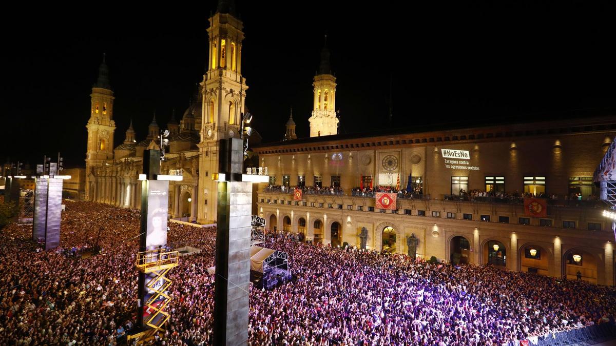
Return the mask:
<svg viewBox="0 0 616 346">
<path fill-rule="evenodd" d="M 259 187 L 257 212 L 269 229 L 332 246 L 359 247 L 366 228 L 368 249 L 407 253 L 415 234 L 424 259 L 613 285 L 614 233 L 593 172 L 615 134 L 614 117 L 596 117 L 262 144 L 272 187 Z M 405 193 L 379 209 L 377 186 Z"/>
</svg>

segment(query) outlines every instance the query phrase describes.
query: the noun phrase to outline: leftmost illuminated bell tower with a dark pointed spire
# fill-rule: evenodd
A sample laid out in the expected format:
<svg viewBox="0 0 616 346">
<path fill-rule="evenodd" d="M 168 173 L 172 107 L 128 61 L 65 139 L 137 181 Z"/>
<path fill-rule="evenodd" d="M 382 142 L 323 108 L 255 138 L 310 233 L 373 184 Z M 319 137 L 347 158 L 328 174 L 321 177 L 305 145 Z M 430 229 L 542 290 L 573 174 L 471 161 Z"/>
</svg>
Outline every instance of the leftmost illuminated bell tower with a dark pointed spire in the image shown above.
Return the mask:
<svg viewBox="0 0 616 346">
<path fill-rule="evenodd" d="M 87 121 L 86 151 L 86 199 L 91 199 L 92 168 L 102 166 L 105 160 L 113 159 L 113 91 L 109 84 L 109 68 L 103 62 L 99 66 L 99 78 L 92 86 L 90 95 L 90 119 Z"/>
</svg>

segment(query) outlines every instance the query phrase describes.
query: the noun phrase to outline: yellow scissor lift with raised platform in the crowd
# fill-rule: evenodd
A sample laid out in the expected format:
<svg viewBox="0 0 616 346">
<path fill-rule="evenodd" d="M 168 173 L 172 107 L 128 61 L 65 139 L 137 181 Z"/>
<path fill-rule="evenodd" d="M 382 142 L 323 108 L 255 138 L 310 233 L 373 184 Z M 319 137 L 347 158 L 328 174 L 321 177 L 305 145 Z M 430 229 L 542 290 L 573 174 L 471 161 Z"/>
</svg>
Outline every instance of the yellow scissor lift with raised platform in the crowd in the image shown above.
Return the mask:
<svg viewBox="0 0 616 346">
<path fill-rule="evenodd" d="M 128 337 L 128 340 L 137 339 L 137 344 L 143 344 L 154 339 L 158 332 L 164 332 L 163 324 L 171 316 L 168 312 L 164 311 L 164 308 L 171 302 L 171 297 L 165 293 L 172 284 L 167 274 L 171 268 L 177 266 L 178 258 L 179 254 L 177 251 L 166 251 L 165 249 L 142 251 L 137 254 L 135 262 L 137 270 L 144 274 L 155 274 L 154 276 L 146 276 L 146 278 L 150 278 L 147 288 L 154 293 L 145 302 L 145 307 L 149 308 L 152 313 L 148 316 L 147 321 L 144 321 L 145 326 L 148 326 L 150 329 L 133 334 Z M 159 283 L 161 284 L 158 285 Z"/>
</svg>

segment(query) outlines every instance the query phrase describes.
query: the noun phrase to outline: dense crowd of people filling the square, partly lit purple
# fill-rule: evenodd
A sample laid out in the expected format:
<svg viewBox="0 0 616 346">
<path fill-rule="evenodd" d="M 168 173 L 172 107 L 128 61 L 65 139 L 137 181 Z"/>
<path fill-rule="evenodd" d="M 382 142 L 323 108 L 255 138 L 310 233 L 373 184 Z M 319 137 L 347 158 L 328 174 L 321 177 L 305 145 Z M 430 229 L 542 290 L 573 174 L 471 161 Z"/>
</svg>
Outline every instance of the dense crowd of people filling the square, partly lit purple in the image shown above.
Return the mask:
<svg viewBox="0 0 616 346">
<path fill-rule="evenodd" d="M 0 231 L 0 345 L 113 345 L 136 323 L 139 212 L 67 203 L 60 248 L 36 251 L 31 228 Z M 172 270 L 158 345 L 212 344 L 214 228 L 169 223 L 168 243 L 203 251 Z M 500 345 L 614 322 L 616 290 L 492 267 L 269 237 L 293 280 L 251 288 L 249 345 Z M 100 253 L 69 256 L 73 248 Z"/>
</svg>

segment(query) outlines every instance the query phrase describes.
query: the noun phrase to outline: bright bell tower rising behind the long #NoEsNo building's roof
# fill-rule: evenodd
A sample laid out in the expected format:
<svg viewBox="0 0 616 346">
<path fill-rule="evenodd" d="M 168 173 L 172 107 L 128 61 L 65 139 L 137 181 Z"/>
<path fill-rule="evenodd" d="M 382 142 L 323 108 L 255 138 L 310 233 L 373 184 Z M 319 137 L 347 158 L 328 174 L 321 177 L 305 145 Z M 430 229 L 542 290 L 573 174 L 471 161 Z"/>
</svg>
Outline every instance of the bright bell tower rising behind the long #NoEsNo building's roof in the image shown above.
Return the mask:
<svg viewBox="0 0 616 346">
<path fill-rule="evenodd" d="M 336 77 L 331 74 L 330 51 L 325 46 L 321 51 L 321 65 L 318 74 L 314 76 L 314 108 L 310 122 L 310 137 L 335 135 L 338 133 L 338 118 L 336 118 Z"/>
</svg>

